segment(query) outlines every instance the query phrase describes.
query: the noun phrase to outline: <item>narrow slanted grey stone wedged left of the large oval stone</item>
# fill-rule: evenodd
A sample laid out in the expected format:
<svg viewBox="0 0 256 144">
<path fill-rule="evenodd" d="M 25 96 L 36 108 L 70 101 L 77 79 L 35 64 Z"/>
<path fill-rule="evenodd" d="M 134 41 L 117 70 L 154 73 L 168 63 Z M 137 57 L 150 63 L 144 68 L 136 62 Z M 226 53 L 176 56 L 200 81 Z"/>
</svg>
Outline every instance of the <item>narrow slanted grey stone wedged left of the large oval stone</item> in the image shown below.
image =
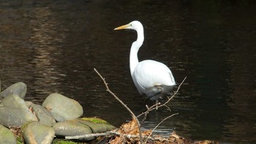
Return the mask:
<svg viewBox="0 0 256 144">
<path fill-rule="evenodd" d="M 45 107 L 31 103 L 29 108 L 33 113 L 35 113 L 39 123 L 45 124 L 46 126 L 53 126 L 53 124 L 56 123 L 53 115 L 50 113 L 50 111 L 46 110 Z"/>
</svg>

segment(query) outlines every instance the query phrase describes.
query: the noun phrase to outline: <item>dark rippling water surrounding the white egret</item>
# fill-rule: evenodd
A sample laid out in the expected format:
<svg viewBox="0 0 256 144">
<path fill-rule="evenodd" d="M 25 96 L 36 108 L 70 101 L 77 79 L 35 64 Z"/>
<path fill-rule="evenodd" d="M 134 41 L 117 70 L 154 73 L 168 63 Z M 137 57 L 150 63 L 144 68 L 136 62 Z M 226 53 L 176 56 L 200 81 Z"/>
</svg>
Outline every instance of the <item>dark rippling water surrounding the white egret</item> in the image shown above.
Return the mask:
<svg viewBox="0 0 256 144">
<path fill-rule="evenodd" d="M 41 104 L 58 92 L 78 100 L 84 116 L 115 126 L 130 115 L 94 72 L 134 112 L 144 109 L 129 75 L 134 31 L 113 31 L 140 20 L 146 39 L 139 59 L 172 67 L 177 83 L 168 105 L 143 124 L 197 140 L 256 143 L 255 1 L 1 1 L 1 86 L 22 81 L 26 100 Z"/>
</svg>

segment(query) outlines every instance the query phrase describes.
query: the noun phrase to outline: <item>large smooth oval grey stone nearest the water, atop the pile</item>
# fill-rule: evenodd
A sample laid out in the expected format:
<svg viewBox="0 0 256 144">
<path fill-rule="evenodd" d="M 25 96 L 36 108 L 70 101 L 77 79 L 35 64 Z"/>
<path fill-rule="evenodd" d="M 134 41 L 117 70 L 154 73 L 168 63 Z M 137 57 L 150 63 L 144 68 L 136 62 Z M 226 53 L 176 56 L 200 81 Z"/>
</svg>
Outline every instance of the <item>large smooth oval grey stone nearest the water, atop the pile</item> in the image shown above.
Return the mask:
<svg viewBox="0 0 256 144">
<path fill-rule="evenodd" d="M 67 121 L 83 115 L 83 107 L 74 99 L 61 94 L 50 94 L 42 106 L 53 114 L 56 121 Z"/>
</svg>

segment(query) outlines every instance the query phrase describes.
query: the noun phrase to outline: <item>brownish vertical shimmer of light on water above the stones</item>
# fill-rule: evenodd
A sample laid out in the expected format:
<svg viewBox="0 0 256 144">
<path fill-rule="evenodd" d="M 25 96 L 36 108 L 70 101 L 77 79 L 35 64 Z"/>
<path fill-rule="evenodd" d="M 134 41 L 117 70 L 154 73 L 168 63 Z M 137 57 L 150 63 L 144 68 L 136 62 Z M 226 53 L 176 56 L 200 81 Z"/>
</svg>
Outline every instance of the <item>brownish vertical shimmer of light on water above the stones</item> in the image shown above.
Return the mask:
<svg viewBox="0 0 256 144">
<path fill-rule="evenodd" d="M 64 35 L 61 34 L 59 29 L 59 23 L 54 17 L 53 12 L 48 7 L 38 7 L 29 13 L 34 15 L 29 20 L 29 26 L 31 26 L 31 36 L 29 43 L 33 49 L 34 56 L 29 64 L 33 65 L 35 69 L 39 69 L 34 72 L 34 86 L 45 86 L 44 89 L 35 88 L 35 92 L 39 94 L 48 94 L 50 90 L 60 86 L 60 79 L 63 79 L 66 75 L 61 72 L 61 69 L 56 65 L 56 61 L 59 61 L 56 56 L 61 54 L 61 47 L 59 44 L 63 41 Z"/>
</svg>

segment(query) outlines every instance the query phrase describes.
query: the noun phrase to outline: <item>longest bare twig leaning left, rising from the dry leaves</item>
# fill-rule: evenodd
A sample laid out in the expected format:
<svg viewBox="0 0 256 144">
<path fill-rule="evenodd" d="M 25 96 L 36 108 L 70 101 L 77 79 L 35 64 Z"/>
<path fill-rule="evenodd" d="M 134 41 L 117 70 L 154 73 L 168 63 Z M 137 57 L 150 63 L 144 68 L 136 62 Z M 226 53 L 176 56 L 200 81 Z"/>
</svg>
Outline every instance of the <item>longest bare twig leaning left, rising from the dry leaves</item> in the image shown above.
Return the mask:
<svg viewBox="0 0 256 144">
<path fill-rule="evenodd" d="M 132 114 L 132 117 L 135 118 L 135 120 L 137 121 L 137 124 L 138 124 L 138 129 L 139 129 L 139 133 L 140 133 L 140 143 L 142 144 L 143 143 L 143 140 L 142 140 L 142 134 L 141 134 L 141 130 L 140 130 L 140 121 L 138 120 L 138 118 L 136 117 L 136 115 L 132 112 L 132 110 L 129 109 L 129 107 L 127 107 L 127 105 L 124 104 L 124 102 L 121 101 L 121 99 L 118 98 L 118 96 L 116 96 L 116 94 L 114 94 L 112 91 L 110 91 L 110 89 L 108 88 L 108 83 L 106 83 L 105 81 L 105 78 L 102 77 L 102 75 L 99 74 L 99 72 L 97 71 L 97 69 L 94 68 L 94 71 L 99 75 L 99 77 L 103 80 L 106 88 L 107 88 L 107 91 L 112 94 L 112 96 L 115 97 L 115 99 L 118 100 L 118 102 L 121 103 L 121 105 L 123 105 L 128 111 L 129 113 Z"/>
</svg>

